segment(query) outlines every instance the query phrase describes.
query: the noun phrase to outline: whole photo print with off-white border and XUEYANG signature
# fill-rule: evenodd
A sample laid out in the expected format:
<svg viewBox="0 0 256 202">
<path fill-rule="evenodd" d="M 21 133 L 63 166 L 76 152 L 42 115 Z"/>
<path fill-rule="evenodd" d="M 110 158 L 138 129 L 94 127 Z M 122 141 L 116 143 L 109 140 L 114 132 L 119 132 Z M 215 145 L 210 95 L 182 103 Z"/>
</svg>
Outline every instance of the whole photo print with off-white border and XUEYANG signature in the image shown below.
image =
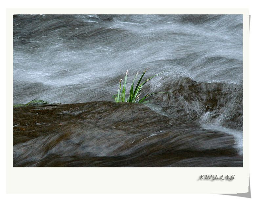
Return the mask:
<svg viewBox="0 0 256 202">
<path fill-rule="evenodd" d="M 248 192 L 247 9 L 7 13 L 10 192 Z"/>
</svg>

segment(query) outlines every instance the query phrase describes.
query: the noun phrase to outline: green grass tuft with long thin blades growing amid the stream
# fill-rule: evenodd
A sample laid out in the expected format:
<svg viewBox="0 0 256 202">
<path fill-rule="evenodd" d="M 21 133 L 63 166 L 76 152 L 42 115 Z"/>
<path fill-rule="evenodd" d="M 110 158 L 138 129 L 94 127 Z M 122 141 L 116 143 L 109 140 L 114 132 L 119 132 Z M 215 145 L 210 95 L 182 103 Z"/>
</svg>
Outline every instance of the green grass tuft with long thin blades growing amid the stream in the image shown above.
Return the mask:
<svg viewBox="0 0 256 202">
<path fill-rule="evenodd" d="M 147 68 L 148 69 L 148 68 Z M 128 70 L 126 71 L 126 74 L 125 74 L 125 79 L 124 79 L 124 83 L 123 83 L 123 89 L 121 90 L 121 81 L 123 81 L 122 79 L 119 80 L 119 89 L 118 89 L 118 92 L 117 92 L 117 95 L 114 95 L 113 98 L 115 100 L 115 102 L 138 102 L 138 103 L 142 103 L 142 102 L 148 102 L 148 101 L 144 101 L 148 96 L 150 95 L 153 95 L 153 94 L 158 94 L 158 93 L 151 93 L 149 95 L 146 95 L 145 97 L 143 97 L 142 99 L 139 100 L 139 95 L 140 95 L 140 91 L 143 87 L 143 85 L 148 82 L 150 79 L 154 78 L 155 76 L 158 76 L 160 74 L 162 74 L 163 72 L 169 70 L 165 70 L 163 72 L 161 72 L 160 74 L 157 74 L 149 79 L 147 79 L 146 81 L 144 81 L 143 83 L 140 84 L 144 74 L 146 73 L 147 69 L 143 72 L 143 74 L 141 75 L 135 89 L 133 89 L 134 87 L 134 81 L 136 79 L 136 77 L 138 76 L 139 72 L 137 72 L 136 76 L 134 77 L 133 79 L 133 82 L 132 82 L 132 85 L 131 85 L 131 88 L 130 88 L 130 95 L 129 97 L 125 98 L 125 91 L 126 91 L 126 82 L 127 82 L 127 74 L 128 74 Z M 166 92 L 159 92 L 159 93 L 166 93 Z M 170 94 L 173 94 L 173 93 L 170 93 Z"/>
</svg>

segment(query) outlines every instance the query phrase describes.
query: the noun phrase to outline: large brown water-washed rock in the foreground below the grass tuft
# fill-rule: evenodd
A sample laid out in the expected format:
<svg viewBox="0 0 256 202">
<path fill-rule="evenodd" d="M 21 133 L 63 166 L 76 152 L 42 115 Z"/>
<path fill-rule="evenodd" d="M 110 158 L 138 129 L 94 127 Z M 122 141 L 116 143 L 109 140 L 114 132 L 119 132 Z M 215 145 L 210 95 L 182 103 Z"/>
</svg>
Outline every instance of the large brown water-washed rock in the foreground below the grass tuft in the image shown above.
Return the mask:
<svg viewBox="0 0 256 202">
<path fill-rule="evenodd" d="M 27 105 L 13 109 L 13 125 L 14 167 L 243 166 L 232 135 L 143 104 Z"/>
</svg>

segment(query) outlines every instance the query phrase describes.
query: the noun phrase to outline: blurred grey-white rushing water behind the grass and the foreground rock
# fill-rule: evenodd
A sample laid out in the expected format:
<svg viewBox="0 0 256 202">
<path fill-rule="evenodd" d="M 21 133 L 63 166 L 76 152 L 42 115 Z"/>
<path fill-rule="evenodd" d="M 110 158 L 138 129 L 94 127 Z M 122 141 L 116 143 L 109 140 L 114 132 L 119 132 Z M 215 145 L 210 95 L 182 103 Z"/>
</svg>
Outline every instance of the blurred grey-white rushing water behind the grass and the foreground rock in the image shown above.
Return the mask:
<svg viewBox="0 0 256 202">
<path fill-rule="evenodd" d="M 151 102 L 147 104 L 151 110 L 168 119 L 182 119 L 186 120 L 186 123 L 193 123 L 190 129 L 187 127 L 179 129 L 183 132 L 198 128 L 201 132 L 207 129 L 229 134 L 234 137 L 235 148 L 242 155 L 242 15 L 15 15 L 13 17 L 13 104 L 23 104 L 34 99 L 48 101 L 51 104 L 113 101 L 113 95 L 117 94 L 119 79 L 124 79 L 126 70 L 128 69 L 127 85 L 130 86 L 137 71 L 140 72 L 140 76 L 147 67 L 145 78 L 168 70 L 150 80 L 141 91 L 142 96 L 154 92 L 173 93 L 153 95 L 148 99 Z M 116 110 L 119 109 L 113 109 L 111 112 L 115 113 Z M 123 113 L 128 114 L 126 111 Z M 31 121 L 25 122 L 23 120 L 24 125 Z M 17 124 L 15 127 L 18 127 L 22 125 L 22 121 L 17 120 L 15 124 Z M 79 127 L 84 130 L 85 126 Z M 159 131 L 155 129 L 150 134 L 157 132 Z M 113 133 L 118 132 L 113 130 Z M 47 131 L 45 134 L 48 134 Z M 138 134 L 142 134 L 141 131 Z M 94 138 L 100 139 L 96 135 Z M 29 141 L 35 140 L 28 139 Z M 46 140 L 39 138 L 38 141 Z M 94 142 L 92 139 L 88 141 Z M 110 140 L 106 141 L 113 143 Z M 159 139 L 155 140 L 155 142 L 159 141 Z M 166 139 L 166 141 L 171 140 Z M 18 148 L 25 147 L 23 144 L 28 142 L 18 141 L 15 143 L 15 148 L 21 151 Z M 120 142 L 114 142 L 116 147 L 121 147 Z M 220 141 L 215 143 L 221 144 Z M 36 143 L 31 144 L 36 145 Z M 100 148 L 99 146 L 98 149 Z M 140 145 L 138 148 L 144 146 Z M 166 151 L 170 150 L 166 148 L 169 146 L 164 147 L 162 153 L 165 151 L 166 154 Z M 129 161 L 130 166 L 149 166 L 141 164 L 139 157 L 134 157 L 134 153 L 129 152 L 118 153 L 117 156 L 121 159 L 117 161 L 136 158 L 135 161 Z M 15 155 L 17 154 L 16 152 Z M 64 155 L 61 152 L 60 154 Z M 133 157 L 125 158 L 123 154 Z M 34 155 L 34 158 L 38 157 L 38 154 Z M 96 154 L 90 158 L 99 156 Z M 106 152 L 105 160 L 102 161 L 116 162 L 112 159 L 113 156 L 115 155 L 111 152 Z M 160 156 L 162 161 L 168 158 Z M 196 155 L 193 156 L 193 160 L 190 158 L 189 162 L 186 162 L 186 158 L 182 159 L 180 164 L 173 162 L 172 166 L 211 165 L 202 158 L 198 159 Z M 196 163 L 199 161 L 201 163 Z M 127 166 L 122 163 L 97 165 Z M 170 166 L 171 163 L 154 165 Z M 219 163 L 216 165 L 223 166 Z M 236 164 L 232 165 L 236 166 Z M 228 163 L 225 166 L 228 166 Z"/>
</svg>

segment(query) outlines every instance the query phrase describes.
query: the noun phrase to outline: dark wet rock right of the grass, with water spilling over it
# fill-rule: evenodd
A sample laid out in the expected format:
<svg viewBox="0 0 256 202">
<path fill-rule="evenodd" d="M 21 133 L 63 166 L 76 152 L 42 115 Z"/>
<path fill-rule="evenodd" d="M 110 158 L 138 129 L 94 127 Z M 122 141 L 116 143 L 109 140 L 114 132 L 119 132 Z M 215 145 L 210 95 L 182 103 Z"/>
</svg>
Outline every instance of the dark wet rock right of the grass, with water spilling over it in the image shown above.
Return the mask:
<svg viewBox="0 0 256 202">
<path fill-rule="evenodd" d="M 163 82 L 151 99 L 172 117 L 201 120 L 231 129 L 243 129 L 243 85 L 224 82 L 194 82 L 190 78 Z"/>
</svg>

